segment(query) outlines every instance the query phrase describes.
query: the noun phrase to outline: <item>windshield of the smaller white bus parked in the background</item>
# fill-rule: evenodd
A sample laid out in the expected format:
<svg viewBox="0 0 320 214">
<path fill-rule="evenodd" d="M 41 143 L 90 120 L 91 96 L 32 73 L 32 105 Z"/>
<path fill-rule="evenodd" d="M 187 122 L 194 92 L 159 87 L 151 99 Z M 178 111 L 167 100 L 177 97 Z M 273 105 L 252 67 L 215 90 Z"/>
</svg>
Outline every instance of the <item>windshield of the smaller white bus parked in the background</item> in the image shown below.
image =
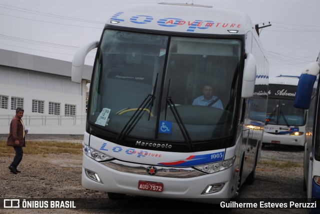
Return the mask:
<svg viewBox="0 0 320 214">
<path fill-rule="evenodd" d="M 266 124 L 283 126 L 303 126 L 305 110 L 293 107 L 294 100 L 269 98 L 266 113 Z"/>
</svg>

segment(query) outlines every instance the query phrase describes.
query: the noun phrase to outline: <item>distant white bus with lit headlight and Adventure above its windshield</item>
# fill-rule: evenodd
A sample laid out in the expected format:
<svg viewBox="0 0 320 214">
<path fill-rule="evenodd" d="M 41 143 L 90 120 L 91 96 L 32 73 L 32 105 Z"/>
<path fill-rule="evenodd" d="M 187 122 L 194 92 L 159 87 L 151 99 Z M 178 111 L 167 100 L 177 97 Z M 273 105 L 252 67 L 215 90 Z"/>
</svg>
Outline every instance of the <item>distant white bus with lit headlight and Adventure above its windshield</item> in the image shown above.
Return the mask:
<svg viewBox="0 0 320 214">
<path fill-rule="evenodd" d="M 307 111 L 293 106 L 299 76 L 269 78 L 263 146 L 292 145 L 304 148 Z"/>
</svg>

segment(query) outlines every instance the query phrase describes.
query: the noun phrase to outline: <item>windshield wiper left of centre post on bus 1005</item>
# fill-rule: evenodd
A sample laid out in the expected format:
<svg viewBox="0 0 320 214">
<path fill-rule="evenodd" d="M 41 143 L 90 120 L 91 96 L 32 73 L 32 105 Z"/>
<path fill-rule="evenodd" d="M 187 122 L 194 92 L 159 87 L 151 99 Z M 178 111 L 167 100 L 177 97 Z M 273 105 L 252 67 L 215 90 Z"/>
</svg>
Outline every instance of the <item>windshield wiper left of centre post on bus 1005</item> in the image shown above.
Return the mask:
<svg viewBox="0 0 320 214">
<path fill-rule="evenodd" d="M 157 80 L 158 80 L 158 74 L 156 74 L 155 83 L 154 83 L 154 86 L 153 86 L 153 93 L 152 94 L 148 94 L 145 97 L 145 99 L 142 101 L 140 106 L 135 110 L 135 112 L 130 117 L 128 122 L 126 122 L 126 124 L 124 125 L 123 129 L 121 130 L 121 132 L 118 134 L 118 136 L 116 138 L 116 142 L 122 141 L 124 139 L 124 137 L 131 131 L 131 128 L 133 127 L 133 124 L 136 122 L 137 118 L 139 118 L 140 114 L 143 112 L 143 110 L 145 109 L 145 107 L 149 103 L 150 103 L 150 109 L 149 109 L 149 117 L 148 117 L 148 119 L 150 119 L 151 109 L 152 109 L 153 102 L 154 102 L 154 94 L 155 94 L 155 89 L 156 89 L 155 87 L 156 87 Z"/>
</svg>

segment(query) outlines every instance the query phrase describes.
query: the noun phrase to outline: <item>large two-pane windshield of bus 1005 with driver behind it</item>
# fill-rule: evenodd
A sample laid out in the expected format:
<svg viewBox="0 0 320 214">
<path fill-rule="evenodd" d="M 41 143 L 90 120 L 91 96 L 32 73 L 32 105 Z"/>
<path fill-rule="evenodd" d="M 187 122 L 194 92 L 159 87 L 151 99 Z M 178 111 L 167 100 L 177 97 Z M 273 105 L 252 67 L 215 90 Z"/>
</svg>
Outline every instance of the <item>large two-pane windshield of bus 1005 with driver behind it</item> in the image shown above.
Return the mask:
<svg viewBox="0 0 320 214">
<path fill-rule="evenodd" d="M 90 86 L 89 123 L 118 139 L 230 136 L 240 53 L 239 39 L 106 29 Z"/>
</svg>

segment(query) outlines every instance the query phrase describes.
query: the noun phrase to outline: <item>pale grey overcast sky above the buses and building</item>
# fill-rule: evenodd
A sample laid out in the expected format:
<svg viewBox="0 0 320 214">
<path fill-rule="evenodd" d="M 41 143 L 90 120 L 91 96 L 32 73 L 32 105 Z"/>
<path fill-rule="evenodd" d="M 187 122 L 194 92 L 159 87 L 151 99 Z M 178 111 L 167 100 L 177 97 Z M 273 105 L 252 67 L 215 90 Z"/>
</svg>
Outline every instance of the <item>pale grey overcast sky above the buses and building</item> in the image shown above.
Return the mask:
<svg viewBox="0 0 320 214">
<path fill-rule="evenodd" d="M 105 21 L 128 3 L 163 0 L 1 0 L 0 49 L 71 61 L 82 44 L 99 40 Z M 192 3 L 192 0 L 166 2 Z M 269 76 L 300 75 L 320 51 L 320 0 L 193 0 L 245 11 L 260 29 Z M 92 64 L 89 53 L 86 64 Z"/>
</svg>

